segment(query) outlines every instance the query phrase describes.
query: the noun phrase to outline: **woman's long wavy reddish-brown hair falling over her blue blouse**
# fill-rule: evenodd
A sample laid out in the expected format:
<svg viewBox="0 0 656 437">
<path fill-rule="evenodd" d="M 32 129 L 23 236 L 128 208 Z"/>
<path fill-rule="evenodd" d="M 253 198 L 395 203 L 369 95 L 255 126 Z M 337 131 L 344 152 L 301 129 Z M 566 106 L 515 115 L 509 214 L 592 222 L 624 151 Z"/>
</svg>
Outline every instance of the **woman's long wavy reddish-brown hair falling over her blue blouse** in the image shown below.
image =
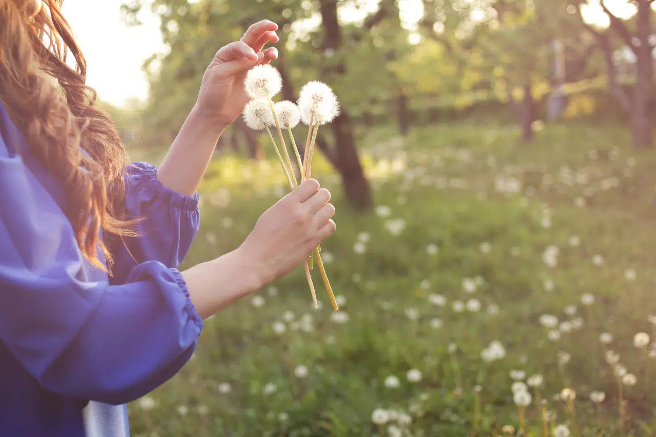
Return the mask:
<svg viewBox="0 0 656 437">
<path fill-rule="evenodd" d="M 31 153 L 64 186 L 64 213 L 81 252 L 111 272 L 108 241 L 136 236 L 123 206 L 127 153 L 85 85 L 87 64 L 62 16 L 63 0 L 43 0 L 40 10 L 37 1 L 0 0 L 0 100 Z"/>
</svg>

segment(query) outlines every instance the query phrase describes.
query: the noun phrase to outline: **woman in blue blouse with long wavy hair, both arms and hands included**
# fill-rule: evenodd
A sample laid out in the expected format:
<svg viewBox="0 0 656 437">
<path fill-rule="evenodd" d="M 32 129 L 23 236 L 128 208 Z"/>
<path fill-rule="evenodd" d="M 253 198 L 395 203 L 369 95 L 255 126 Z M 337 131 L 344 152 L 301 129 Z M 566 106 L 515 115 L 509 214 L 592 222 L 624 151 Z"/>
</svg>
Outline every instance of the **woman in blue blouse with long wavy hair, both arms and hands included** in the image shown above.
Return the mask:
<svg viewBox="0 0 656 437">
<path fill-rule="evenodd" d="M 125 166 L 61 3 L 0 0 L 0 436 L 127 436 L 125 403 L 175 375 L 203 319 L 299 266 L 335 209 L 310 180 L 237 249 L 176 270 L 216 140 L 247 102 L 245 72 L 276 58 L 262 49 L 277 26 L 216 53 L 159 169 Z"/>
</svg>

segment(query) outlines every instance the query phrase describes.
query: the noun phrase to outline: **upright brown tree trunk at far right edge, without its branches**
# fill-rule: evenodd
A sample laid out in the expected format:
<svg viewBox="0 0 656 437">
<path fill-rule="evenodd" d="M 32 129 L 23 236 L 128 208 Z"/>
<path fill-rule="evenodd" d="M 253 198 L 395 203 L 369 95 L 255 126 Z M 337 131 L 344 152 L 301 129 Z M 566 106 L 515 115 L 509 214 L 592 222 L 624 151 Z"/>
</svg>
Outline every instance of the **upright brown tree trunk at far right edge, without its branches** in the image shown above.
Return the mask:
<svg viewBox="0 0 656 437">
<path fill-rule="evenodd" d="M 636 33 L 640 45 L 636 47 L 636 87 L 634 89 L 631 125 L 633 144 L 636 148 L 651 148 L 653 146 L 653 131 L 651 128 L 651 87 L 653 81 L 653 64 L 651 63 L 651 23 L 649 4 L 640 4 L 636 15 Z"/>
</svg>

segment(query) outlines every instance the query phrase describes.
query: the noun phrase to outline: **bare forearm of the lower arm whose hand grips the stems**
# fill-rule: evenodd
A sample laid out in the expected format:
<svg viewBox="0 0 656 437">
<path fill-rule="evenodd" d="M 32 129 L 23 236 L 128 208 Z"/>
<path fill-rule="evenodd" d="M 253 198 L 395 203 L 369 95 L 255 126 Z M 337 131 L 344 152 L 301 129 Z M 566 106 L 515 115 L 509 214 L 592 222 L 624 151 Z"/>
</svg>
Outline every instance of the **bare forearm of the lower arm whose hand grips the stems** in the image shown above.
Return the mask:
<svg viewBox="0 0 656 437">
<path fill-rule="evenodd" d="M 190 298 L 205 319 L 264 286 L 261 268 L 249 263 L 239 249 L 182 272 Z"/>
</svg>

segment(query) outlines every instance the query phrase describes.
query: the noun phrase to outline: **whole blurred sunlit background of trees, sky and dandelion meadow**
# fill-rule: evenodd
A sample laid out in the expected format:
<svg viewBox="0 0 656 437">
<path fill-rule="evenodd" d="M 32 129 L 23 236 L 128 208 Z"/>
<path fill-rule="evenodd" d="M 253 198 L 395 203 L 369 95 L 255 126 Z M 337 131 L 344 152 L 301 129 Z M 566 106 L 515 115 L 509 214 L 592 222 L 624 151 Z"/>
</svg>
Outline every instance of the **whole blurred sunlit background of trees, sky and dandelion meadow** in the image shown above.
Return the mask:
<svg viewBox="0 0 656 437">
<path fill-rule="evenodd" d="M 655 435 L 652 3 L 66 0 L 133 160 L 161 162 L 215 52 L 263 18 L 276 99 L 318 79 L 342 106 L 313 172 L 341 310 L 298 271 L 216 314 L 133 434 Z M 237 119 L 182 268 L 285 192 Z"/>
</svg>

